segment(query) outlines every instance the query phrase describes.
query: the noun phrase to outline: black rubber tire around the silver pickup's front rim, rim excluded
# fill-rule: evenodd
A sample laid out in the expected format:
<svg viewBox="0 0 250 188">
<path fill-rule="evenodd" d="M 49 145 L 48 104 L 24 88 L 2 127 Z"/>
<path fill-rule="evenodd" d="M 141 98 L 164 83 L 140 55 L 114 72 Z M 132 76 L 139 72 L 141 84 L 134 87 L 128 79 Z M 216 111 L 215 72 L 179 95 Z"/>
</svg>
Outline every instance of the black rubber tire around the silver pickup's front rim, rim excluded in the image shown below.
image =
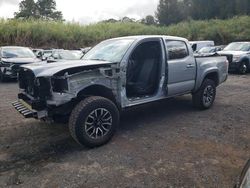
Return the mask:
<svg viewBox="0 0 250 188">
<path fill-rule="evenodd" d="M 97 109 L 106 109 L 112 117 L 112 125 L 109 132 L 102 138 L 93 139 L 86 132 L 85 124 L 91 113 Z M 109 99 L 93 96 L 82 100 L 73 109 L 69 118 L 69 130 L 71 136 L 80 144 L 90 148 L 106 144 L 114 135 L 119 125 L 119 111 L 116 105 Z"/>
</svg>

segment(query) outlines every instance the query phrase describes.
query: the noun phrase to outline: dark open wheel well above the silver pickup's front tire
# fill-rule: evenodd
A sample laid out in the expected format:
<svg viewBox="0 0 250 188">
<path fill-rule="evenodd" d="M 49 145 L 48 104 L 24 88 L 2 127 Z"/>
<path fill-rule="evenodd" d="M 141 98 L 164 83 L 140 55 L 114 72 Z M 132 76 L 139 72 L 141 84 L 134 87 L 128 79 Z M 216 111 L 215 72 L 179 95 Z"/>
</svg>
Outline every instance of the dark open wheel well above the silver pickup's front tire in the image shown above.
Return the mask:
<svg viewBox="0 0 250 188">
<path fill-rule="evenodd" d="M 88 96 L 104 97 L 104 98 L 111 100 L 112 102 L 114 102 L 117 105 L 117 101 L 116 101 L 116 98 L 115 98 L 112 90 L 105 87 L 105 86 L 92 85 L 92 86 L 89 86 L 89 87 L 83 89 L 82 91 L 80 91 L 77 94 L 77 98 L 80 100 L 82 100 Z"/>
</svg>

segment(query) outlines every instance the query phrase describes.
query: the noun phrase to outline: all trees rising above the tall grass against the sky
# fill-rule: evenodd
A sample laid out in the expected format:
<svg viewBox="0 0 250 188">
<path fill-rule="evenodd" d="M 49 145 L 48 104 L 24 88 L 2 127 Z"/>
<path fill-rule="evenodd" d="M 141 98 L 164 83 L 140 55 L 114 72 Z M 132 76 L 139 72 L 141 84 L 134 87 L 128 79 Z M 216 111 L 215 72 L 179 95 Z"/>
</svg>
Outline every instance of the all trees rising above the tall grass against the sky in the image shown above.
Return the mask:
<svg viewBox="0 0 250 188">
<path fill-rule="evenodd" d="M 155 16 L 141 20 L 123 17 L 102 22 L 139 22 L 146 25 L 170 25 L 185 20 L 228 19 L 235 15 L 250 15 L 250 0 L 159 0 Z M 56 10 L 55 0 L 22 0 L 15 18 L 63 20 Z"/>
</svg>

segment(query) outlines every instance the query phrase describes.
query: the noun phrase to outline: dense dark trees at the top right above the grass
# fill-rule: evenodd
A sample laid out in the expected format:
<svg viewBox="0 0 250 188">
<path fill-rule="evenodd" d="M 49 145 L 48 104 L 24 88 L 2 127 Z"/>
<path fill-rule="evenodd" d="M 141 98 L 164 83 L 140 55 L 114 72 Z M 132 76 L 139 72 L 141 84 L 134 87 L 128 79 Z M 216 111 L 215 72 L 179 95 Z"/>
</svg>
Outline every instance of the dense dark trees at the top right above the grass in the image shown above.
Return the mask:
<svg viewBox="0 0 250 188">
<path fill-rule="evenodd" d="M 235 15 L 250 15 L 250 0 L 160 0 L 155 17 L 159 24 L 169 25 Z"/>
</svg>

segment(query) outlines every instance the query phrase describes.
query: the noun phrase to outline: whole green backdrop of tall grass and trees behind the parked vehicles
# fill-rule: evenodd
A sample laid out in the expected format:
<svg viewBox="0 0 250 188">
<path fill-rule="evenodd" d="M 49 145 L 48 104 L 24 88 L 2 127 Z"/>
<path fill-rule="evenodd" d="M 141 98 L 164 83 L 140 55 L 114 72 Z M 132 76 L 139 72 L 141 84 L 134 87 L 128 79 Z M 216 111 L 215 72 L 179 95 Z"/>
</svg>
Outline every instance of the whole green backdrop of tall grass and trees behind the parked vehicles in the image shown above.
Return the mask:
<svg viewBox="0 0 250 188">
<path fill-rule="evenodd" d="M 91 25 L 63 22 L 55 0 L 23 0 L 16 19 L 0 20 L 0 46 L 73 49 L 128 35 L 174 35 L 216 44 L 250 40 L 249 0 L 159 0 L 156 16 Z"/>
</svg>

